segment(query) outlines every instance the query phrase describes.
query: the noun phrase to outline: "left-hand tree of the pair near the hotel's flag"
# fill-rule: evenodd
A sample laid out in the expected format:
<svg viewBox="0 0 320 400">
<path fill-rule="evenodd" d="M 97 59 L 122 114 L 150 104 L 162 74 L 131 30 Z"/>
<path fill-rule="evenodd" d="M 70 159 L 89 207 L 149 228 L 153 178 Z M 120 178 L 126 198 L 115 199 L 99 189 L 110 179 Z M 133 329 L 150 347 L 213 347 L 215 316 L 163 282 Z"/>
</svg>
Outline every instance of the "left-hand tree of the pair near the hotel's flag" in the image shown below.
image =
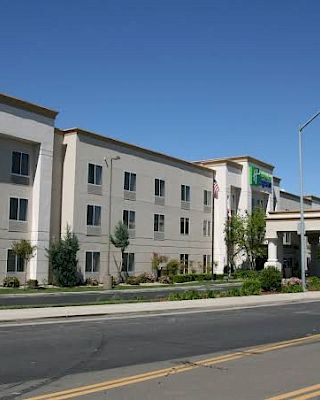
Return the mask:
<svg viewBox="0 0 320 400">
<path fill-rule="evenodd" d="M 224 234 L 227 247 L 228 274 L 231 274 L 235 269 L 235 257 L 244 250 L 245 218 L 237 214 L 228 217 Z"/>
</svg>

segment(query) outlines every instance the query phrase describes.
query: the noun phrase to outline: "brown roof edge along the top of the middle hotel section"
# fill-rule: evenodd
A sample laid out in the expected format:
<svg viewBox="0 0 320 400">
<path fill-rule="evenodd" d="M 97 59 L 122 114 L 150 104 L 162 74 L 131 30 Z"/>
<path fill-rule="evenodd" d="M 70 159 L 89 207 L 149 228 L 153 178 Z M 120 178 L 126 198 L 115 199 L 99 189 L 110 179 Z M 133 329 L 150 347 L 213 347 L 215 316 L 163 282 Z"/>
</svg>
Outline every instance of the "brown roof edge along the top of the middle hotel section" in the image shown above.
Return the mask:
<svg viewBox="0 0 320 400">
<path fill-rule="evenodd" d="M 145 147 L 140 147 L 140 146 L 137 146 L 137 145 L 134 145 L 134 144 L 131 144 L 131 143 L 127 143 L 127 142 L 124 142 L 124 141 L 121 141 L 121 140 L 118 140 L 118 139 L 111 138 L 109 136 L 104 136 L 104 135 L 101 135 L 101 134 L 98 134 L 98 133 L 95 133 L 95 132 L 91 132 L 91 131 L 87 131 L 87 130 L 84 130 L 84 129 L 81 129 L 81 128 L 68 128 L 68 129 L 58 129 L 58 128 L 56 128 L 56 131 L 58 131 L 58 133 L 60 132 L 60 133 L 62 133 L 64 135 L 66 135 L 66 134 L 80 134 L 80 135 L 89 136 L 89 137 L 92 137 L 92 138 L 95 138 L 95 139 L 98 139 L 98 140 L 102 140 L 104 142 L 113 143 L 113 144 L 120 145 L 120 146 L 123 146 L 123 147 L 128 148 L 128 149 L 140 151 L 140 152 L 148 154 L 148 155 L 157 156 L 157 157 L 163 158 L 163 159 L 165 159 L 167 161 L 173 161 L 173 162 L 176 162 L 176 163 L 179 163 L 179 164 L 182 164 L 182 165 L 186 165 L 189 168 L 191 167 L 191 168 L 195 168 L 195 169 L 201 170 L 201 172 L 207 172 L 208 173 L 208 172 L 214 171 L 211 168 L 207 168 L 205 166 L 194 164 L 191 161 L 182 160 L 180 158 L 173 157 L 173 156 L 170 156 L 168 154 L 160 153 L 158 151 L 150 150 L 150 149 L 147 149 Z"/>
</svg>

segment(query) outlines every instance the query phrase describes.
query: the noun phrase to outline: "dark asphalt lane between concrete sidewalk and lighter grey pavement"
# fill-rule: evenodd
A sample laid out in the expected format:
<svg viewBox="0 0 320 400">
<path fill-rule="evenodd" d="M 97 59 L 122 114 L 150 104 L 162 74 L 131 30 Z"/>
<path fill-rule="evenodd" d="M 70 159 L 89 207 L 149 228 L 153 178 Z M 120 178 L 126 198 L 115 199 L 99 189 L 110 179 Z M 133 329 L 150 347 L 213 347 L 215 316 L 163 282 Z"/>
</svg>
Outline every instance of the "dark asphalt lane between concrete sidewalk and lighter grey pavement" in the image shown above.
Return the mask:
<svg viewBox="0 0 320 400">
<path fill-rule="evenodd" d="M 1 325 L 0 398 L 16 398 L 12 388 L 18 386 L 19 393 L 27 396 L 66 376 L 90 373 L 94 379 L 101 371 L 115 368 L 188 360 L 315 334 L 320 332 L 319 317 L 320 302 L 314 302 L 169 316 Z"/>
</svg>

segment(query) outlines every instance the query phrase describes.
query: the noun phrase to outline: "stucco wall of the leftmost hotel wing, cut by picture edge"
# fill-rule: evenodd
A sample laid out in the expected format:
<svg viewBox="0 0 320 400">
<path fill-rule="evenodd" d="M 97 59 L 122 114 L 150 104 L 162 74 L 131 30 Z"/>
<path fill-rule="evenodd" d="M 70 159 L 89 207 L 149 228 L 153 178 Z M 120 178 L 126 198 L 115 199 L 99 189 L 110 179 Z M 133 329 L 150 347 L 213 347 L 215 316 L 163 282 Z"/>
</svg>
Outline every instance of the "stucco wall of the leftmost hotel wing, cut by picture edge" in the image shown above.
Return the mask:
<svg viewBox="0 0 320 400">
<path fill-rule="evenodd" d="M 27 278 L 47 279 L 45 249 L 50 231 L 53 126 L 51 118 L 0 104 L 0 283 L 6 275 L 7 249 L 22 238 L 37 247 Z M 29 154 L 29 185 L 12 179 L 11 157 L 15 150 Z M 28 198 L 28 228 L 24 233 L 9 231 L 10 197 Z M 24 279 L 24 274 L 19 277 Z"/>
</svg>

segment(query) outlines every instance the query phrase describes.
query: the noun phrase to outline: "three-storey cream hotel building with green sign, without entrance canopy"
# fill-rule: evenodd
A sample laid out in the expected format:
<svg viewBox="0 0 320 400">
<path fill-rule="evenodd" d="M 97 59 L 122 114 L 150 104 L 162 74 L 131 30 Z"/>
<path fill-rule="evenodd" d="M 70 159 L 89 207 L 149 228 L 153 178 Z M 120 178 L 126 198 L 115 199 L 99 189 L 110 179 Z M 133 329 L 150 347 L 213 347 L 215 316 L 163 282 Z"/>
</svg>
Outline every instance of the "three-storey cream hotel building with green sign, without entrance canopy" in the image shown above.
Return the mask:
<svg viewBox="0 0 320 400">
<path fill-rule="evenodd" d="M 191 163 L 78 128 L 56 129 L 56 115 L 0 95 L 0 283 L 7 275 L 48 281 L 46 249 L 67 226 L 79 239 L 84 279 L 117 275 L 120 253 L 113 246 L 109 253 L 108 242 L 119 221 L 129 229 L 130 274 L 151 272 L 153 253 L 180 261 L 184 273 L 210 272 L 214 261 L 220 274 L 228 215 L 298 209 L 298 197 L 281 190 L 274 167 L 261 160 Z M 320 200 L 308 196 L 305 207 L 320 209 Z M 36 246 L 28 266 L 11 251 L 20 239 Z"/>
</svg>

